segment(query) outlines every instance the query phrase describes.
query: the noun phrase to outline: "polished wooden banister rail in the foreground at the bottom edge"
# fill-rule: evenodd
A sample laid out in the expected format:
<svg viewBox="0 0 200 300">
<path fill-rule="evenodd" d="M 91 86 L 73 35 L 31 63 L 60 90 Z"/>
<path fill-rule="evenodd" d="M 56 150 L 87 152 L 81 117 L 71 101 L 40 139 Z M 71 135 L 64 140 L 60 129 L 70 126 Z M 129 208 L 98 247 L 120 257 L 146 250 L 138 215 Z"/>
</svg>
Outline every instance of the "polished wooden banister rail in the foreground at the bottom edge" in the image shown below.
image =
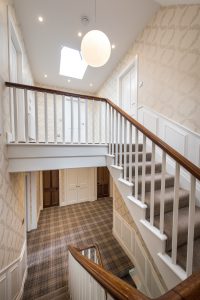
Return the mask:
<svg viewBox="0 0 200 300">
<path fill-rule="evenodd" d="M 116 300 L 150 300 L 149 297 L 130 286 L 120 278 L 116 277 L 101 266 L 93 263 L 83 255 L 81 249 L 72 245 L 69 252 L 74 259 Z M 166 294 L 156 298 L 157 300 L 199 300 L 200 295 L 200 273 L 193 274 L 185 281 L 168 291 Z"/>
</svg>

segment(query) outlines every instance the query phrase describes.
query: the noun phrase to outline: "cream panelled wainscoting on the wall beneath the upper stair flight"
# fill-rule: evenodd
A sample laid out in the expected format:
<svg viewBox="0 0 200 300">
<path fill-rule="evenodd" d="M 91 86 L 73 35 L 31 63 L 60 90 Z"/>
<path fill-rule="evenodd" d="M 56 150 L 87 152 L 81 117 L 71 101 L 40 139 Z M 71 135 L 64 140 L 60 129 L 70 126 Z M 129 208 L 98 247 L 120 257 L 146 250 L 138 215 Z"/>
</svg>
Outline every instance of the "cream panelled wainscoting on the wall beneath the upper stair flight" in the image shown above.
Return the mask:
<svg viewBox="0 0 200 300">
<path fill-rule="evenodd" d="M 145 290 L 146 295 L 153 298 L 165 293 L 166 290 L 156 275 L 134 229 L 116 211 L 114 211 L 113 235 L 134 264 L 144 288 L 142 292 Z"/>
</svg>

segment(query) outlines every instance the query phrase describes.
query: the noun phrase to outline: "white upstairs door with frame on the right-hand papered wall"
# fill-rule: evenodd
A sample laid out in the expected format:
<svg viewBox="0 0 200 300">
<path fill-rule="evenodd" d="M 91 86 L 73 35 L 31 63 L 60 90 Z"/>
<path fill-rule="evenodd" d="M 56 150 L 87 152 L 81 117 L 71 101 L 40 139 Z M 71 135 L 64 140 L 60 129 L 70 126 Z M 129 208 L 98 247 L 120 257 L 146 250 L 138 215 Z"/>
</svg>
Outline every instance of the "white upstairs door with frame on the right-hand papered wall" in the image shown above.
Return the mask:
<svg viewBox="0 0 200 300">
<path fill-rule="evenodd" d="M 138 109 L 138 59 L 135 57 L 134 61 L 128 66 L 126 70 L 118 78 L 119 86 L 119 105 L 120 107 L 137 119 Z"/>
</svg>

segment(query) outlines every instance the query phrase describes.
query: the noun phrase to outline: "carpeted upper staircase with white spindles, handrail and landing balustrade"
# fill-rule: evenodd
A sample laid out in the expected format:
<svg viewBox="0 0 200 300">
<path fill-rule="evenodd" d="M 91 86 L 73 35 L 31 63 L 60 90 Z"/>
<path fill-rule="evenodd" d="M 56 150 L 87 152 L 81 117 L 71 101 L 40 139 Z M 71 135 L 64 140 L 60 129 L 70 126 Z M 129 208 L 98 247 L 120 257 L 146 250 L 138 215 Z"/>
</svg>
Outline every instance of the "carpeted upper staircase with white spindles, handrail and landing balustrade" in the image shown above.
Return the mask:
<svg viewBox="0 0 200 300">
<path fill-rule="evenodd" d="M 10 172 L 107 165 L 167 288 L 199 270 L 198 166 L 109 99 L 15 83 L 6 86 L 14 107 L 24 103 L 24 115 L 17 110 L 11 115 L 15 126 L 8 134 Z M 39 117 L 41 108 L 44 115 Z"/>
</svg>

